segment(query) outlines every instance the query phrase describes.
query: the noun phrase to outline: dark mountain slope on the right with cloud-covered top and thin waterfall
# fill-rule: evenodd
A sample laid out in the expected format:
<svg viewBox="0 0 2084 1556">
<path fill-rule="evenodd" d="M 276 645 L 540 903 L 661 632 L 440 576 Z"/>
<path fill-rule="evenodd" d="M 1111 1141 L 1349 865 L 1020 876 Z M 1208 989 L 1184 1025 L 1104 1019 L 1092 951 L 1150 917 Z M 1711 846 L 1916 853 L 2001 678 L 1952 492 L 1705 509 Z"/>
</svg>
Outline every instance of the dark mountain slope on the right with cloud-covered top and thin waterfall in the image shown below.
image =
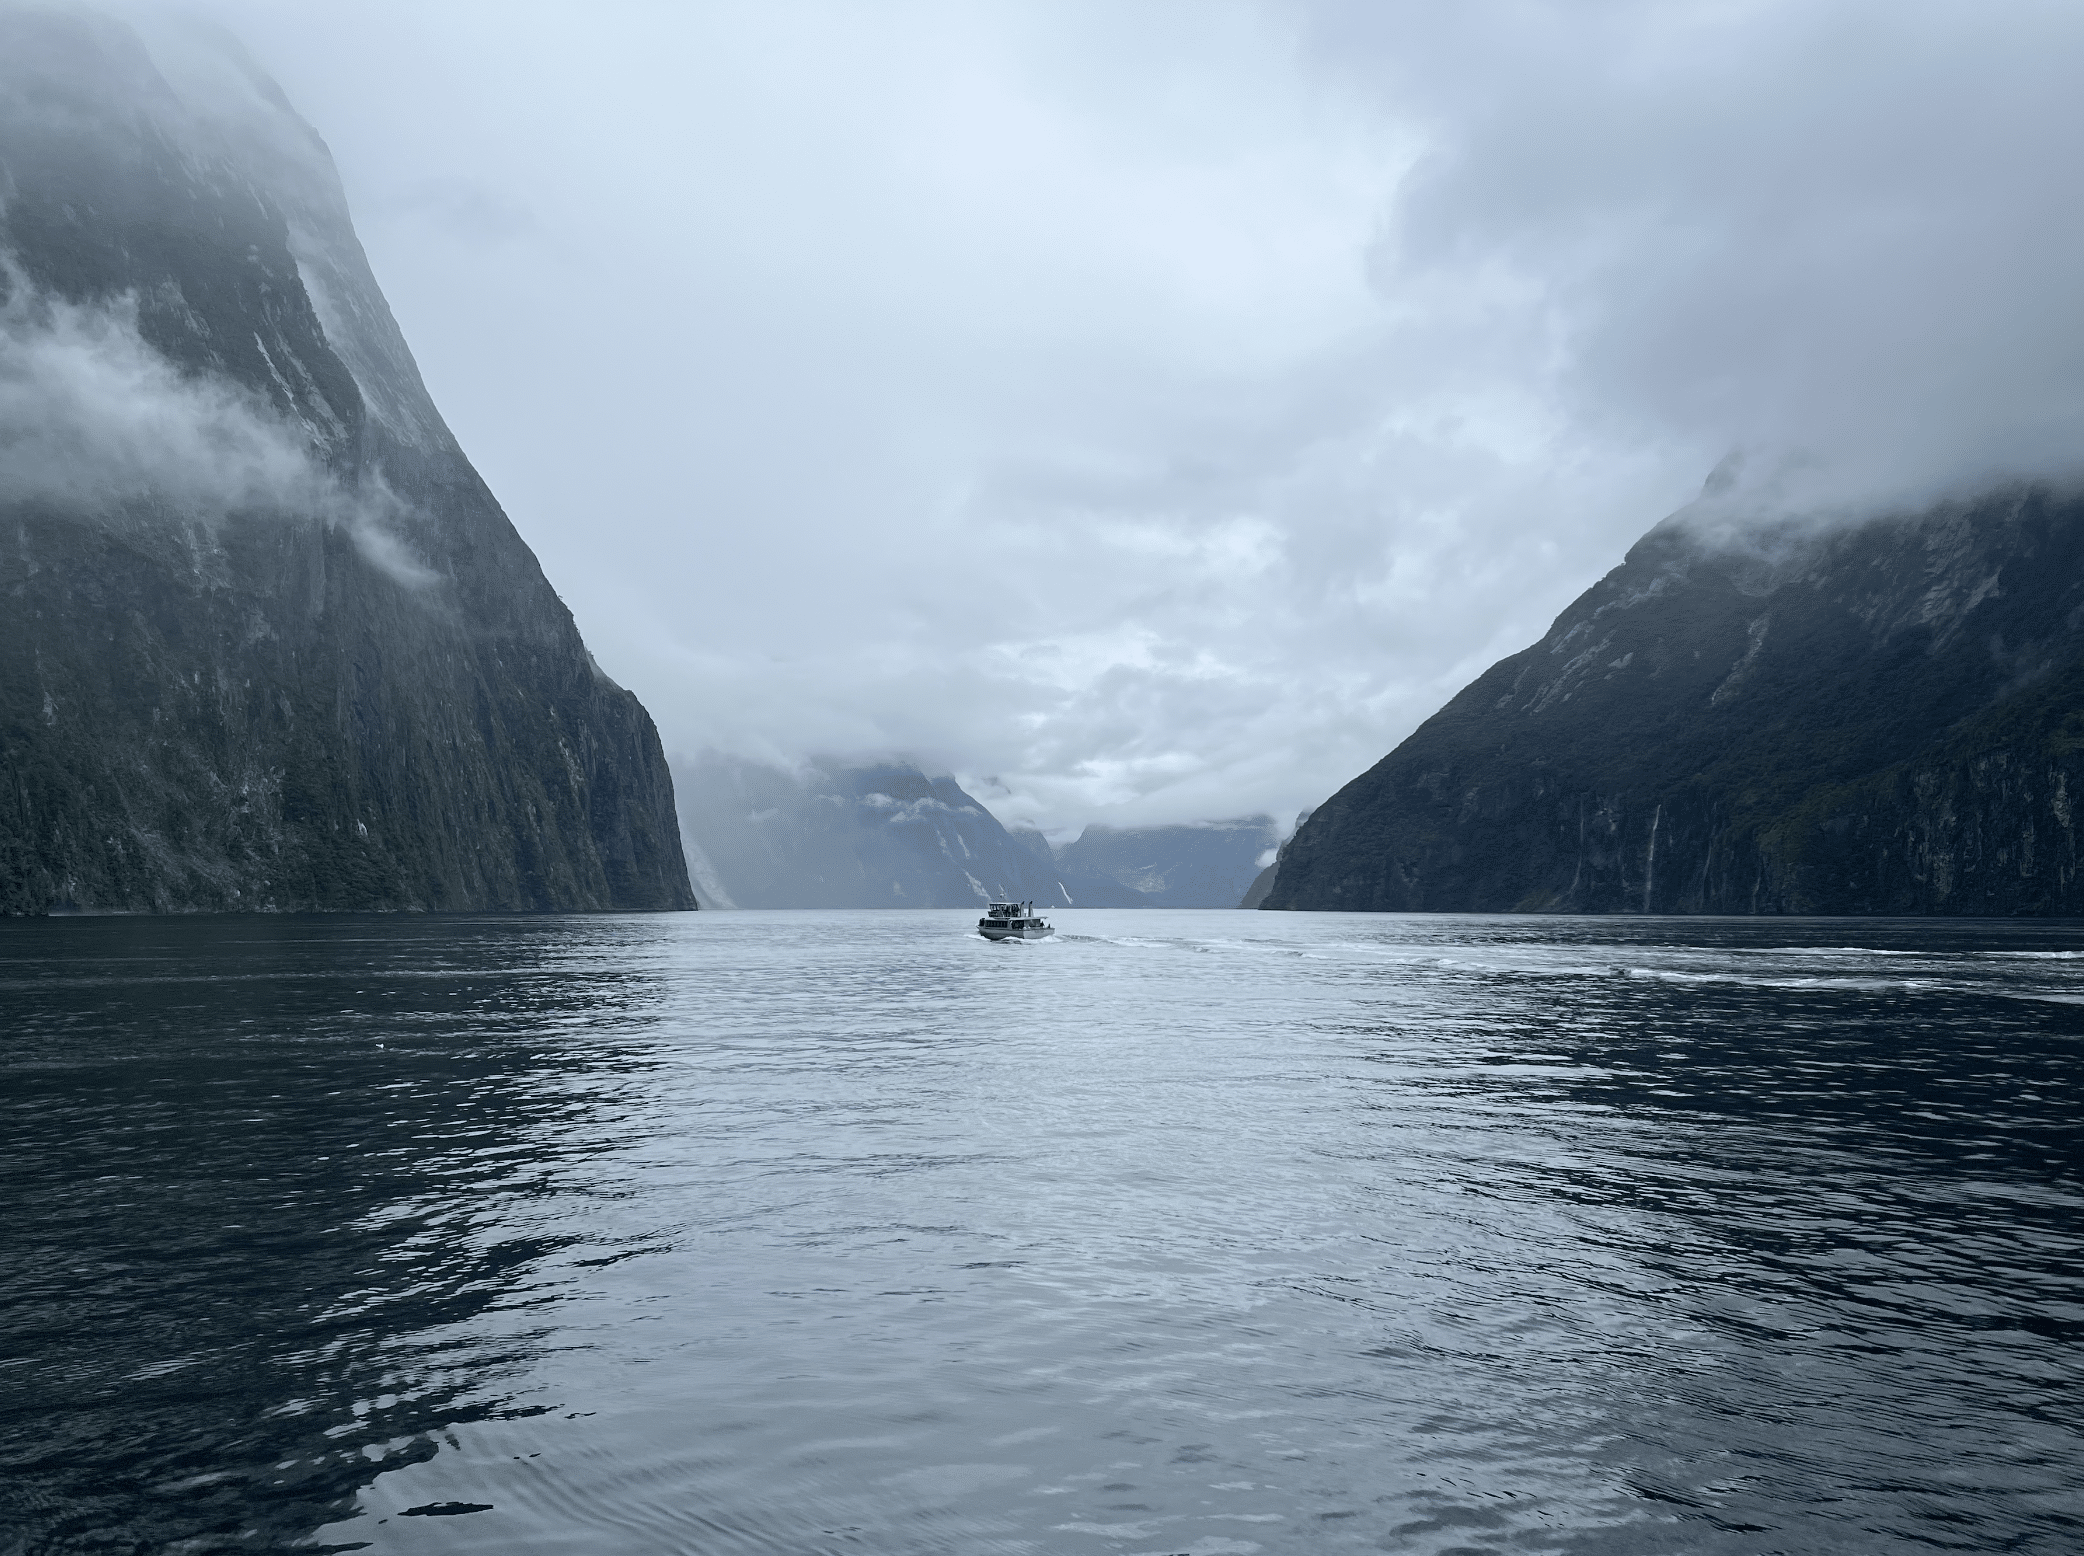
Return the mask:
<svg viewBox="0 0 2084 1556">
<path fill-rule="evenodd" d="M 1315 810 L 1267 908 L 2078 914 L 2084 500 L 1653 529 Z"/>
</svg>

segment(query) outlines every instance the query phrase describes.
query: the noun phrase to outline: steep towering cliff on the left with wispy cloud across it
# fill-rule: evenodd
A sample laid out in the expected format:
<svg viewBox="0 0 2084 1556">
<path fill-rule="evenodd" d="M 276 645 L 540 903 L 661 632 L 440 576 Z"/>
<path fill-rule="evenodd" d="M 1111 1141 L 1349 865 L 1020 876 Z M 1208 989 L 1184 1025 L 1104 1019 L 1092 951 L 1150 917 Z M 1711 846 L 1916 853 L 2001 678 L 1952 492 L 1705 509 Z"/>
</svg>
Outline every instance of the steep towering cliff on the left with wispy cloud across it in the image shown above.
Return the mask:
<svg viewBox="0 0 2084 1556">
<path fill-rule="evenodd" d="M 317 133 L 227 42 L 0 6 L 0 910 L 692 906 Z"/>
</svg>

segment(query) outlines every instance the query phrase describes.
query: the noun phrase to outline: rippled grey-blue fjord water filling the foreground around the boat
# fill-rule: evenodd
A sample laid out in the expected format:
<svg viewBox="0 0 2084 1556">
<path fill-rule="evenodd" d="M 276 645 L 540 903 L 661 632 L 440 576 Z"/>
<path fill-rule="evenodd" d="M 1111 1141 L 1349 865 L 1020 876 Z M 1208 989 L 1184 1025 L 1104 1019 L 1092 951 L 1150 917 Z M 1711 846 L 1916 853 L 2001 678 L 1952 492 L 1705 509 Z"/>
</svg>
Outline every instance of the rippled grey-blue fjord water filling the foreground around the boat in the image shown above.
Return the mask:
<svg viewBox="0 0 2084 1556">
<path fill-rule="evenodd" d="M 2084 931 L 0 929 L 6 1552 L 2084 1548 Z"/>
</svg>

